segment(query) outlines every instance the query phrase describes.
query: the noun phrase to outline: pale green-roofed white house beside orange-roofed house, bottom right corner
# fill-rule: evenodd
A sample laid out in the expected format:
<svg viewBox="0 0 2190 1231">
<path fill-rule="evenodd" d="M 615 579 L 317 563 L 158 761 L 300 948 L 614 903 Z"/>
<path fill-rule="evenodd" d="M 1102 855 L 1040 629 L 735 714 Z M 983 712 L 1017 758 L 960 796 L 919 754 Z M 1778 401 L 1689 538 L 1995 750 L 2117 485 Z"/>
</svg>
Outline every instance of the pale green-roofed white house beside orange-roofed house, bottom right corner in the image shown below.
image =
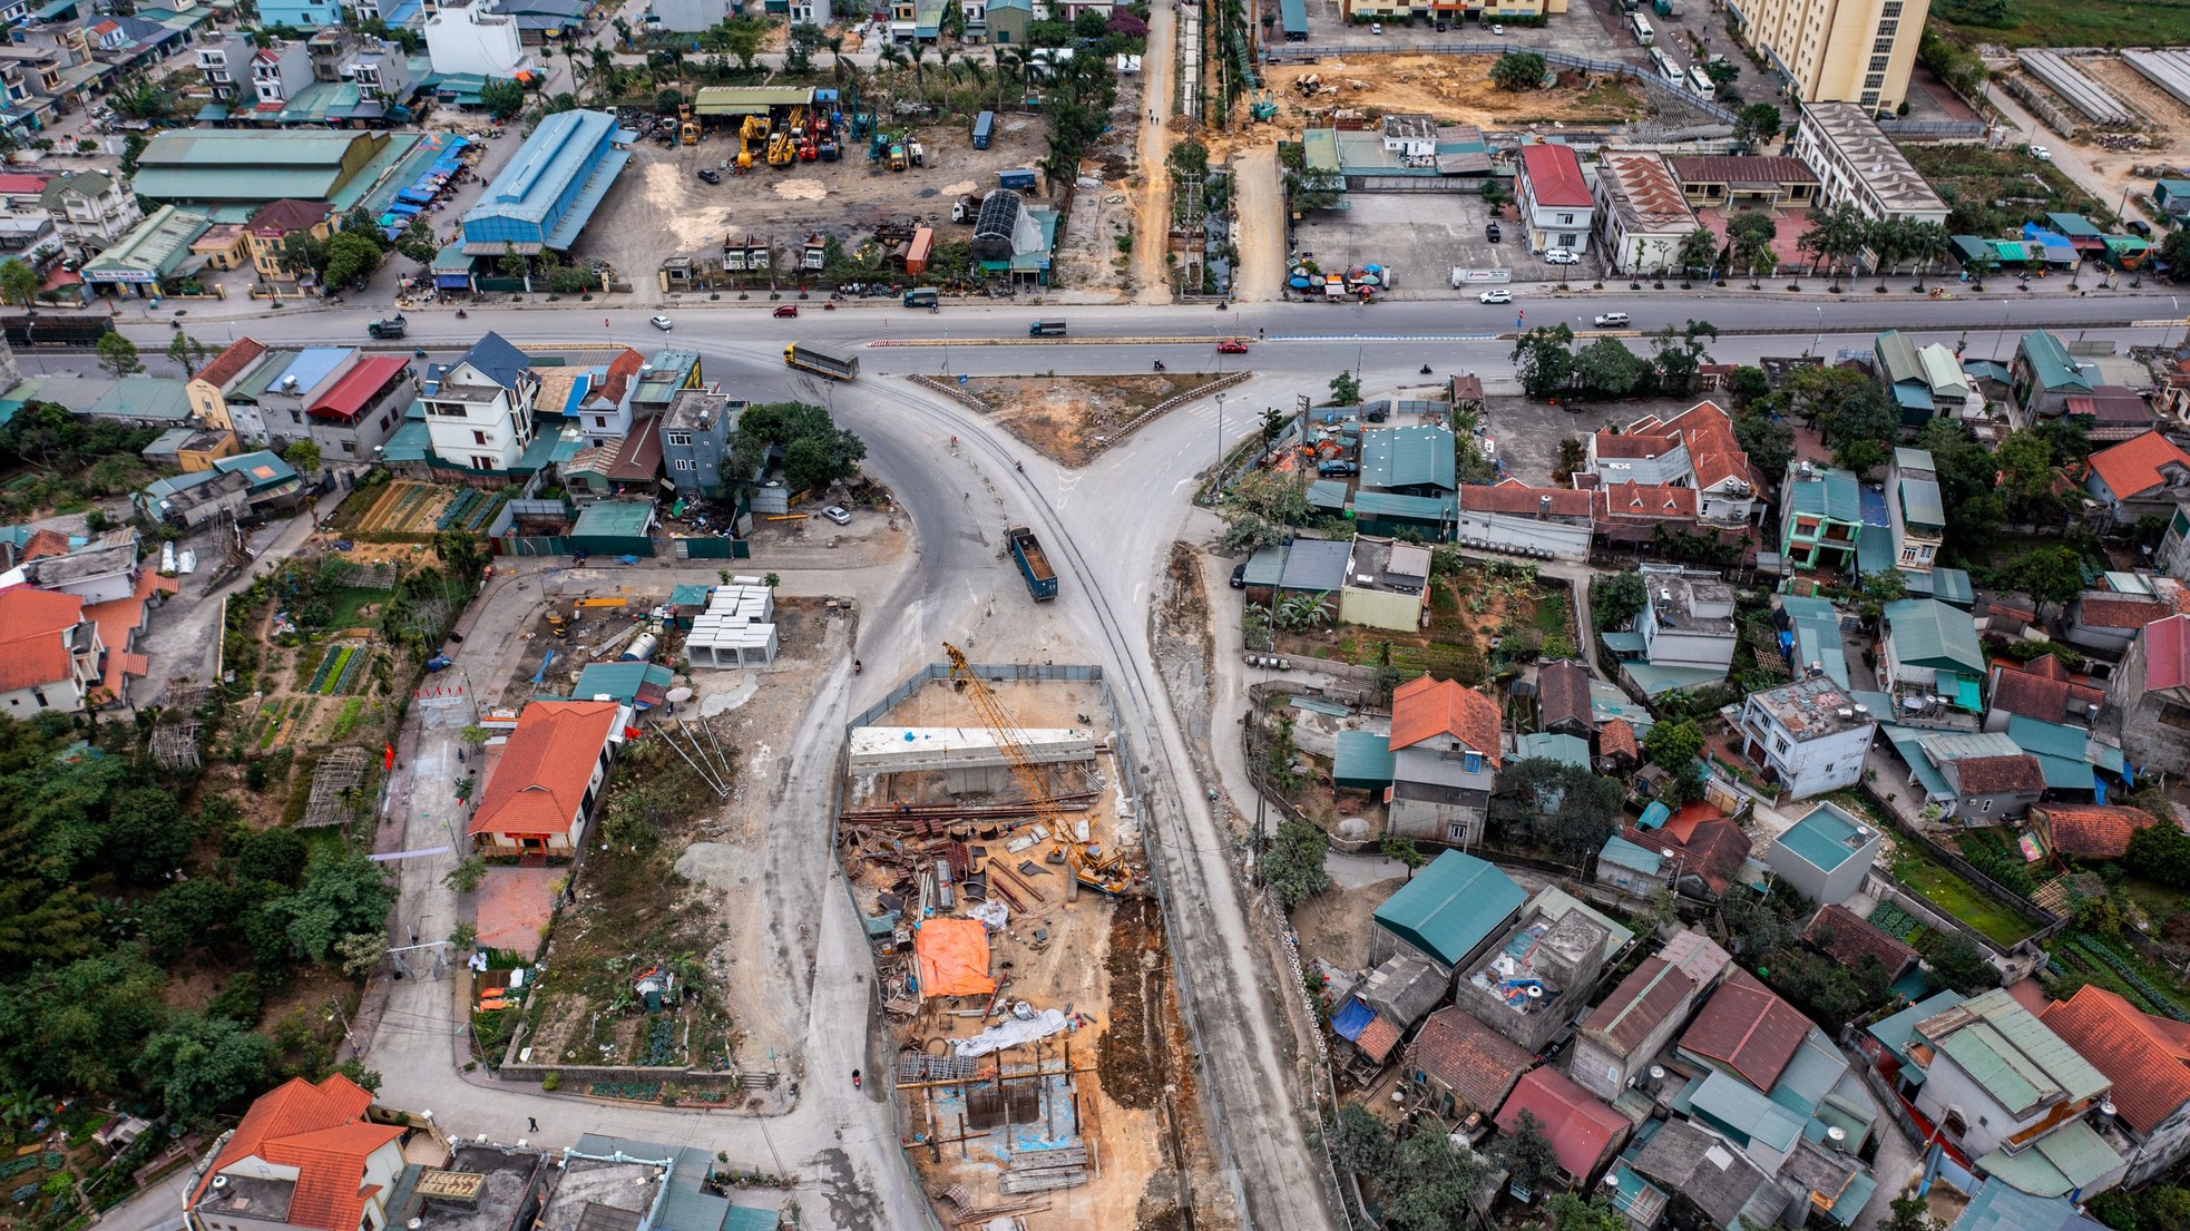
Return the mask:
<svg viewBox="0 0 2190 1231">
<path fill-rule="evenodd" d="M 2089 1198 L 2126 1172 L 2085 1119 L 2113 1082 L 2006 988 L 1914 1023 L 1907 1054 L 1923 1082 L 1916 1111 L 1978 1174 L 2035 1196 Z"/>
</svg>

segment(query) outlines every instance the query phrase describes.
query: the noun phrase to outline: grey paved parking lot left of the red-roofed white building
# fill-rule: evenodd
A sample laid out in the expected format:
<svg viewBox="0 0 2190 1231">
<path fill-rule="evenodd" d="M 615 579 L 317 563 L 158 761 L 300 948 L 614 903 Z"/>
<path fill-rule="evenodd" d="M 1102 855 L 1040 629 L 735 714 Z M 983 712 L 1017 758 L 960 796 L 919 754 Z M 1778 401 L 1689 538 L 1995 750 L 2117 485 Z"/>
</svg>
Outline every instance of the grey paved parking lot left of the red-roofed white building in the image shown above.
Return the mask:
<svg viewBox="0 0 2190 1231">
<path fill-rule="evenodd" d="M 1294 223 L 1294 243 L 1301 252 L 1314 252 L 1325 269 L 1362 263 L 1395 269 L 1397 289 L 1393 294 L 1397 298 L 1465 296 L 1472 300 L 1489 287 L 1559 280 L 1561 267 L 1529 252 L 1522 226 L 1511 217 L 1498 223 L 1500 243 L 1485 239 L 1489 212 L 1480 197 L 1465 193 L 1351 193 L 1349 204 L 1351 208 L 1312 215 Z M 1507 215 L 1511 212 L 1509 206 Z M 1472 283 L 1454 291 L 1454 265 L 1511 269 L 1511 283 Z M 1592 269 L 1588 256 L 1581 265 L 1564 267 L 1568 278 L 1594 278 Z M 1487 329 L 1511 329 L 1513 324 L 1505 309 L 1485 307 L 1483 313 Z"/>
</svg>

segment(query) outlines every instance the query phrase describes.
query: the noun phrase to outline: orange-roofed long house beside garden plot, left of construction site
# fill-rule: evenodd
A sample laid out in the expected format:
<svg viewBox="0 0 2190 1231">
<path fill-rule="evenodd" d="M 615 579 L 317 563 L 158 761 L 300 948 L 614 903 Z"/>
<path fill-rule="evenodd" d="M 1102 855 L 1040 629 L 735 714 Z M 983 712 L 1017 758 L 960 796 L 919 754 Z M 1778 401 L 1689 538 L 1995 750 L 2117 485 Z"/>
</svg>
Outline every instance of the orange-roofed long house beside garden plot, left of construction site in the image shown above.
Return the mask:
<svg viewBox="0 0 2190 1231">
<path fill-rule="evenodd" d="M 534 701 L 491 762 L 486 793 L 464 828 L 488 854 L 576 854 L 593 799 L 622 743 L 613 701 Z M 488 751 L 488 756 L 495 756 Z"/>
</svg>

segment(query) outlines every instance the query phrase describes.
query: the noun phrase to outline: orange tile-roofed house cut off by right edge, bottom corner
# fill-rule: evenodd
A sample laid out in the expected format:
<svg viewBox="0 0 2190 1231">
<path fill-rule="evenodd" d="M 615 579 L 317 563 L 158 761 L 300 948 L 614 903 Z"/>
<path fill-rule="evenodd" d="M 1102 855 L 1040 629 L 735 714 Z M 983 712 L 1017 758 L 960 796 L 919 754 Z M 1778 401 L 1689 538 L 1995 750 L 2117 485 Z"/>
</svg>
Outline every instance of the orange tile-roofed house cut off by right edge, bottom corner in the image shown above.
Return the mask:
<svg viewBox="0 0 2190 1231">
<path fill-rule="evenodd" d="M 2096 983 L 2039 1014 L 2063 1043 L 2113 1082 L 2113 1113 L 2100 1135 L 2129 1159 L 2122 1185 L 2137 1187 L 2190 1154 L 2190 1025 L 2140 1012 Z"/>
</svg>

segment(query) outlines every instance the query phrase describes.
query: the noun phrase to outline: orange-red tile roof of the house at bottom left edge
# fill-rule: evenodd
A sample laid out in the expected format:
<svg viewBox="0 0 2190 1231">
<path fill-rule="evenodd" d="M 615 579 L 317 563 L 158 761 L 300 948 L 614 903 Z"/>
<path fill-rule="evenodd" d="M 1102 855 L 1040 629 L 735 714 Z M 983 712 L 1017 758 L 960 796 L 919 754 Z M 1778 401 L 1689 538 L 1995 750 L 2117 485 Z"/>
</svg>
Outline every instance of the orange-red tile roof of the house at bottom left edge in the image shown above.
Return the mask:
<svg viewBox="0 0 2190 1231">
<path fill-rule="evenodd" d="M 263 1159 L 278 1167 L 296 1167 L 296 1192 L 289 1198 L 289 1227 L 322 1231 L 355 1231 L 366 1209 L 366 1159 L 390 1141 L 403 1139 L 399 1124 L 366 1124 L 372 1095 L 357 1082 L 335 1073 L 318 1086 L 291 1078 L 258 1097 L 221 1154 L 206 1167 L 191 1205 L 206 1198 L 212 1176 Z"/>
</svg>

